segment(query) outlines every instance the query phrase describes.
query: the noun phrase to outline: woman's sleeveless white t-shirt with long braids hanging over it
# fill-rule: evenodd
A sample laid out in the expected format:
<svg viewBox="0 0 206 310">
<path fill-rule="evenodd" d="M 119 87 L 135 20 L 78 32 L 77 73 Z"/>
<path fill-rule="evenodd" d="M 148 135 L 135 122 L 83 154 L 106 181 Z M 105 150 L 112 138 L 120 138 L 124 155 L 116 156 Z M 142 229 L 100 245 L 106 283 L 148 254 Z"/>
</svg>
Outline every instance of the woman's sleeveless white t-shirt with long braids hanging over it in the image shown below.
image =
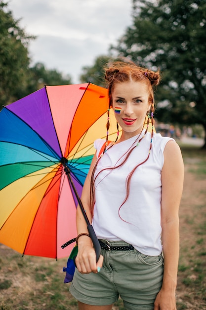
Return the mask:
<svg viewBox="0 0 206 310">
<path fill-rule="evenodd" d="M 121 156 L 136 139 L 137 136 L 132 137 L 108 149 L 99 160 L 95 176 L 106 167 L 118 165 L 124 158 Z M 122 207 L 126 195 L 126 177 L 138 163 L 147 158 L 151 133 L 145 135 L 123 166 L 104 170 L 97 176 L 92 220 L 97 238 L 124 240 L 145 255 L 156 256 L 162 252 L 161 171 L 163 152 L 169 140 L 173 139 L 154 134 L 149 159 L 132 175 L 129 197 Z M 97 156 L 104 143 L 102 139 L 94 142 Z"/>
</svg>

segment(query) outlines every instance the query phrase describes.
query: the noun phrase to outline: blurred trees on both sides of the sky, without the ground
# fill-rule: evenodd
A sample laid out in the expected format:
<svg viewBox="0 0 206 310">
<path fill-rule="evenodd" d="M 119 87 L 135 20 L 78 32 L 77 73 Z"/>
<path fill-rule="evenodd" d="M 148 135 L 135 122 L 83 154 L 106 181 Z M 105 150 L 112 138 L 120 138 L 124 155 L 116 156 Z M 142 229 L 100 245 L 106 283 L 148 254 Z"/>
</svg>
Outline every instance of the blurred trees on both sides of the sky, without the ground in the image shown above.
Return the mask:
<svg viewBox="0 0 206 310">
<path fill-rule="evenodd" d="M 81 2 L 79 5 L 81 11 Z M 88 5 L 92 9 L 92 1 Z M 160 68 L 157 129 L 177 139 L 205 140 L 206 0 L 130 0 L 128 5 L 131 24 L 108 46 L 106 54 L 96 55 L 93 64 L 82 67 L 78 83 L 90 81 L 104 86 L 103 67 L 117 56 L 129 57 L 153 70 Z M 111 16 L 117 20 L 115 12 L 118 14 L 118 9 Z M 65 74 L 52 63 L 48 68 L 42 62 L 33 62 L 29 46 L 37 39 L 20 26 L 9 2 L 0 0 L 0 108 L 44 85 L 73 83 L 73 72 Z M 67 53 L 69 58 L 70 51 Z M 206 143 L 202 146 L 206 148 Z"/>
</svg>

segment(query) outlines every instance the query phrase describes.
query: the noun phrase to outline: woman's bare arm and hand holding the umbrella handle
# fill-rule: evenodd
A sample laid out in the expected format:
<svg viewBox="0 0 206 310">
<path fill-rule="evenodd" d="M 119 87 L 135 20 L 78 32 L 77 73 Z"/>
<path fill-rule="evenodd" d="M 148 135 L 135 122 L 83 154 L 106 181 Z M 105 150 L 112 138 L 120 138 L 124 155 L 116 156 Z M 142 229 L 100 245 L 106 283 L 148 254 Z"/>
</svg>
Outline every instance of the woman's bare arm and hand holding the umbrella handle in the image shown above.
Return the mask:
<svg viewBox="0 0 206 310">
<path fill-rule="evenodd" d="M 86 215 L 89 219 L 89 222 L 92 221 L 91 211 L 90 211 L 90 182 L 91 182 L 91 173 L 96 163 L 96 154 L 94 155 L 89 172 L 86 176 L 83 190 L 82 190 L 82 205 L 86 212 Z M 88 233 L 87 225 L 82 215 L 82 211 L 80 207 L 77 207 L 77 215 L 76 215 L 76 223 L 77 223 L 77 231 L 78 234 Z M 93 244 L 91 239 L 88 236 L 81 236 L 78 240 L 78 255 L 76 258 L 76 265 L 78 270 L 81 273 L 89 273 L 89 272 L 97 272 L 97 266 L 101 267 L 103 262 L 103 257 L 100 256 L 98 262 L 96 263 L 96 254 L 93 249 Z"/>
</svg>

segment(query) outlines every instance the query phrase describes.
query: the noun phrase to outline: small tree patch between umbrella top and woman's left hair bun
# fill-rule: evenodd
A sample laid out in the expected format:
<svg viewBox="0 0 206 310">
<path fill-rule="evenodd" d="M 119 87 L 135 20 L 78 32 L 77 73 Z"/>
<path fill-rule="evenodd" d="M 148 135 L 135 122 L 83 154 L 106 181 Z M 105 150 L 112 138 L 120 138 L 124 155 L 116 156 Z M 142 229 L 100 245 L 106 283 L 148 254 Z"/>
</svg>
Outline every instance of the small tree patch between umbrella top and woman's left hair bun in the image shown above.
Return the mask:
<svg viewBox="0 0 206 310">
<path fill-rule="evenodd" d="M 98 56 L 94 60 L 93 66 L 85 66 L 82 68 L 83 73 L 80 76 L 80 81 L 82 83 L 91 82 L 93 84 L 99 85 L 104 87 L 105 86 L 105 73 L 104 73 L 104 67 L 109 62 L 111 57 L 106 55 Z"/>
</svg>

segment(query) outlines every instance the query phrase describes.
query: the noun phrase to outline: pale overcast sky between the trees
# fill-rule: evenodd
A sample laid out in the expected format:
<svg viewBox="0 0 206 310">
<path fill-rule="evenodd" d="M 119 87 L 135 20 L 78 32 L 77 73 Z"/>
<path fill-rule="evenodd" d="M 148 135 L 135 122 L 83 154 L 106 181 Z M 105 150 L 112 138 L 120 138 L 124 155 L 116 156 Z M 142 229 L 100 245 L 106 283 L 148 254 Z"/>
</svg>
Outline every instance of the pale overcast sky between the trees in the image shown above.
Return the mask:
<svg viewBox="0 0 206 310">
<path fill-rule="evenodd" d="M 9 0 L 25 32 L 36 35 L 29 51 L 33 63 L 70 74 L 79 83 L 83 66 L 107 54 L 132 23 L 131 0 Z"/>
</svg>

